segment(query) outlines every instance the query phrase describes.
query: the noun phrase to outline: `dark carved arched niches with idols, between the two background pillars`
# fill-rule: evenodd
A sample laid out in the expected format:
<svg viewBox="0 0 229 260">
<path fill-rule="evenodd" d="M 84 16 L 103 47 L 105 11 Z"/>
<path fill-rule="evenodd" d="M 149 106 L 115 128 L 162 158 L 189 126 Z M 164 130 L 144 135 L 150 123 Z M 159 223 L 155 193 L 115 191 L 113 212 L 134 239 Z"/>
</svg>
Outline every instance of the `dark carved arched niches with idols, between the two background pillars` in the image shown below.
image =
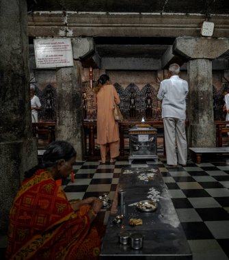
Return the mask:
<svg viewBox="0 0 229 260">
<path fill-rule="evenodd" d="M 93 83 L 93 86 L 96 82 Z M 114 83 L 120 97 L 120 110 L 124 120 L 141 120 L 144 116 L 148 120 L 161 120 L 161 101 L 157 99 L 157 90 L 150 84 L 139 89 L 135 83 L 130 83 L 126 88 Z M 96 104 L 94 103 L 94 92 L 90 83 L 83 83 L 82 90 L 83 120 L 96 120 Z"/>
</svg>

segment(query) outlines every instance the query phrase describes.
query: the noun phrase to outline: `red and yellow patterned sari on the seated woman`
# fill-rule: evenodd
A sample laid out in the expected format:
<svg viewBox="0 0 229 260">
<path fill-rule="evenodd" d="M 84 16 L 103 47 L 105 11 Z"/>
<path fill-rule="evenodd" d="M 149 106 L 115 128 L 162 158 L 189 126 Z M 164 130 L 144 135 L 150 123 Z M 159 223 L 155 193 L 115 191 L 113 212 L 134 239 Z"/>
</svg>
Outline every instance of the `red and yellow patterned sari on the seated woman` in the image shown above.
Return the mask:
<svg viewBox="0 0 229 260">
<path fill-rule="evenodd" d="M 6 259 L 98 259 L 100 237 L 87 217 L 72 210 L 46 170 L 25 179 L 10 211 Z"/>
</svg>

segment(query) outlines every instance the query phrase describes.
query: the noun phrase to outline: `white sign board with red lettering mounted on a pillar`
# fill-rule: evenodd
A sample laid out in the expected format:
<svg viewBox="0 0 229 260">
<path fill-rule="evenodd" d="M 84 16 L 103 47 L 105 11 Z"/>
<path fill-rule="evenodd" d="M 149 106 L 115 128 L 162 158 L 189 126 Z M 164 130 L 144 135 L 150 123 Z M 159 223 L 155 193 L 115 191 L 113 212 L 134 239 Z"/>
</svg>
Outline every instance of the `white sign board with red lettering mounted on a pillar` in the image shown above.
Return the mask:
<svg viewBox="0 0 229 260">
<path fill-rule="evenodd" d="M 35 39 L 37 68 L 73 66 L 72 44 L 69 38 Z"/>
</svg>

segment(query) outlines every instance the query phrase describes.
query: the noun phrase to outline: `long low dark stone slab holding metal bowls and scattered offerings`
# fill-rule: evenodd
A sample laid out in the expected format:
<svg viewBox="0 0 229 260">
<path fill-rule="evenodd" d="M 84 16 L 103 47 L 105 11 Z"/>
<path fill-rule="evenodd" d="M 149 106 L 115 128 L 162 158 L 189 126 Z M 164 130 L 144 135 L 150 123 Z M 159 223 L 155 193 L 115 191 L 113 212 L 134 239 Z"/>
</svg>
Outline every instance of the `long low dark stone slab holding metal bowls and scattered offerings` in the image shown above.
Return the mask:
<svg viewBox="0 0 229 260">
<path fill-rule="evenodd" d="M 128 172 L 128 170 L 132 172 Z M 147 174 L 150 175 L 150 179 L 148 181 L 140 180 L 141 174 L 144 174 L 144 177 Z M 154 174 L 153 177 L 152 174 Z M 109 216 L 100 259 L 192 259 L 189 244 L 161 172 L 152 168 L 124 169 L 120 174 L 120 187 L 126 191 L 126 204 L 116 206 L 117 196 L 115 196 L 111 211 L 117 209 L 118 212 L 111 213 Z M 150 200 L 148 192 L 151 188 L 154 190 L 154 200 L 159 200 L 157 210 L 139 211 L 133 203 L 137 203 L 139 200 Z M 160 198 L 157 198 L 156 195 L 159 195 Z M 113 219 L 122 214 L 124 214 L 122 223 L 115 224 Z M 130 226 L 128 223 L 130 218 L 141 218 L 143 224 Z M 135 250 L 131 248 L 130 244 L 120 244 L 118 234 L 121 231 L 142 233 L 144 235 L 142 249 Z"/>
</svg>

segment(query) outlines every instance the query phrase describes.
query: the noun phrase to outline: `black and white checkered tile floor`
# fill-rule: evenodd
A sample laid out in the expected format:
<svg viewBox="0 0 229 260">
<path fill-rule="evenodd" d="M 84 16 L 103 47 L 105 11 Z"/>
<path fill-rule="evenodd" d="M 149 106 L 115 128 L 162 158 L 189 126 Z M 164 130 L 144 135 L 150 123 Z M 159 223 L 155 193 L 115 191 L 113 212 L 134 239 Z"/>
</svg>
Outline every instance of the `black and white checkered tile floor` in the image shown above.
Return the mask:
<svg viewBox="0 0 229 260">
<path fill-rule="evenodd" d="M 134 160 L 131 167 L 159 168 L 183 226 L 193 260 L 229 259 L 229 157 L 202 158 L 202 164 L 188 161 L 186 167 L 167 168 L 165 157 L 151 161 Z M 75 181 L 62 183 L 68 199 L 87 198 L 109 193 L 113 198 L 120 172 L 129 161 L 99 164 L 76 162 Z M 98 217 L 106 224 L 109 209 Z M 0 238 L 1 243 L 1 238 Z"/>
</svg>

